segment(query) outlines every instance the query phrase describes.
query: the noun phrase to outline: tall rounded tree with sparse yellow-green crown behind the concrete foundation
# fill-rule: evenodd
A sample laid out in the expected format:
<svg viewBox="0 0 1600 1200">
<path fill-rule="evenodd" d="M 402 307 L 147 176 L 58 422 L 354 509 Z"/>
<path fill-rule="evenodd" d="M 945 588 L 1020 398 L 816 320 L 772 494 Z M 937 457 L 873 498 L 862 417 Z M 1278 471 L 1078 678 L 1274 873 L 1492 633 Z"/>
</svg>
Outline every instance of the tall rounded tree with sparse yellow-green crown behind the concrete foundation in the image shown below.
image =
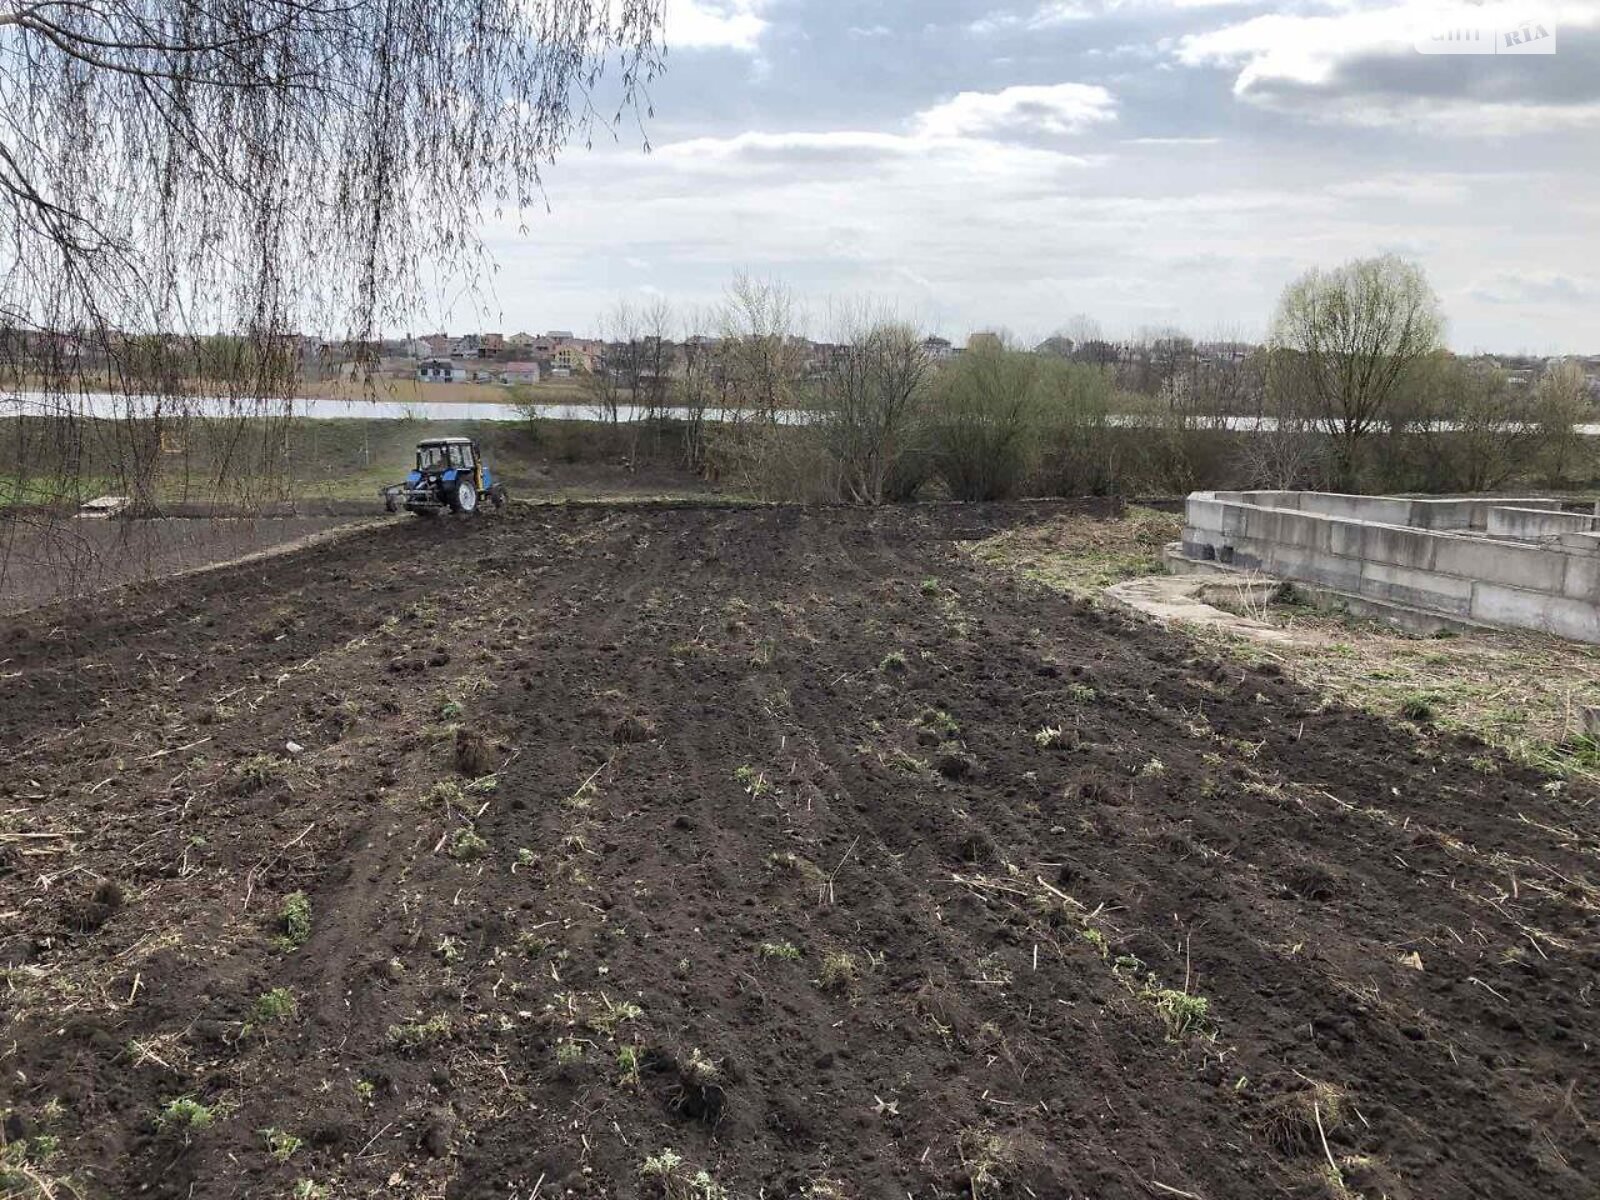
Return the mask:
<svg viewBox="0 0 1600 1200">
<path fill-rule="evenodd" d="M 1309 398 L 1331 438 L 1336 486 L 1357 485 L 1362 442 L 1387 421 L 1406 373 L 1442 334 L 1427 277 L 1394 254 L 1312 269 L 1283 290 L 1272 386 Z"/>
</svg>

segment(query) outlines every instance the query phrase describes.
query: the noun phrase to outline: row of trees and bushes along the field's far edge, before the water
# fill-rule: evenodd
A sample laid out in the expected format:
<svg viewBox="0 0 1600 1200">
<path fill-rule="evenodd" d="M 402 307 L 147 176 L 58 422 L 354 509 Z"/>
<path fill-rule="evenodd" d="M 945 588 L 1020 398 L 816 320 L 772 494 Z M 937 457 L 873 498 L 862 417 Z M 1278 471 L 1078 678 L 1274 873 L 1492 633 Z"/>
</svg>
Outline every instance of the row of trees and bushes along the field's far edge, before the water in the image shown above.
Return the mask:
<svg viewBox="0 0 1600 1200">
<path fill-rule="evenodd" d="M 608 370 L 584 386 L 611 421 L 632 405 L 656 450 L 672 430 L 685 466 L 792 499 L 1485 491 L 1594 472 L 1574 429 L 1594 414 L 1582 366 L 1555 362 L 1522 384 L 1450 354 L 1426 275 L 1394 256 L 1306 272 L 1266 344 L 1221 354 L 1178 331 L 1130 352 L 1078 318 L 1075 336 L 1032 350 L 974 334 L 938 362 L 891 309 L 848 304 L 829 323 L 818 370 L 781 283 L 741 275 L 682 328 L 666 301 L 621 304 L 605 322 Z M 805 419 L 784 418 L 794 410 Z"/>
</svg>

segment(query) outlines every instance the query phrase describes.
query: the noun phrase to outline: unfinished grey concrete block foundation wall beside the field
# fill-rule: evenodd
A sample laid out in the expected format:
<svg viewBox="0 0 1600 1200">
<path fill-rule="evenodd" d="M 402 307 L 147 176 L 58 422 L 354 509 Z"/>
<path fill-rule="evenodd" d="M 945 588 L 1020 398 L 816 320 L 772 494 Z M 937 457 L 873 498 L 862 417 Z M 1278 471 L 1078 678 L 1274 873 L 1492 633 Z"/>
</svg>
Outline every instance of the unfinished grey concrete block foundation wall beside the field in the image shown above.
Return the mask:
<svg viewBox="0 0 1600 1200">
<path fill-rule="evenodd" d="M 1376 602 L 1600 643 L 1600 533 L 1594 517 L 1563 514 L 1558 501 L 1195 493 L 1182 552 Z"/>
</svg>

